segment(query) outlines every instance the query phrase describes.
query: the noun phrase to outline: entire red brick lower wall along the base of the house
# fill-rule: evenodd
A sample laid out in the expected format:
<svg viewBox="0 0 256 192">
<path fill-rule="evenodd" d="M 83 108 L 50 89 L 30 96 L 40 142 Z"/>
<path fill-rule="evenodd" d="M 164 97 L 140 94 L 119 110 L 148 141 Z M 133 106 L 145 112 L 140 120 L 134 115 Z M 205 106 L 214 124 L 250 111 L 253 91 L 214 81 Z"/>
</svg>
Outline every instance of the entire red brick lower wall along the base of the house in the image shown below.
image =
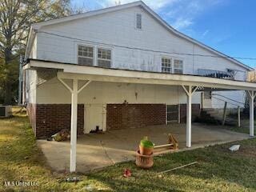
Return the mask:
<svg viewBox="0 0 256 192">
<path fill-rule="evenodd" d="M 30 123 L 37 138 L 47 138 L 62 129 L 70 130 L 70 104 L 29 104 Z M 192 104 L 192 121 L 200 104 Z M 186 122 L 186 104 L 180 104 L 180 120 Z M 107 104 L 106 130 L 166 124 L 165 104 Z M 78 104 L 78 134 L 83 134 L 84 105 Z"/>
</svg>

